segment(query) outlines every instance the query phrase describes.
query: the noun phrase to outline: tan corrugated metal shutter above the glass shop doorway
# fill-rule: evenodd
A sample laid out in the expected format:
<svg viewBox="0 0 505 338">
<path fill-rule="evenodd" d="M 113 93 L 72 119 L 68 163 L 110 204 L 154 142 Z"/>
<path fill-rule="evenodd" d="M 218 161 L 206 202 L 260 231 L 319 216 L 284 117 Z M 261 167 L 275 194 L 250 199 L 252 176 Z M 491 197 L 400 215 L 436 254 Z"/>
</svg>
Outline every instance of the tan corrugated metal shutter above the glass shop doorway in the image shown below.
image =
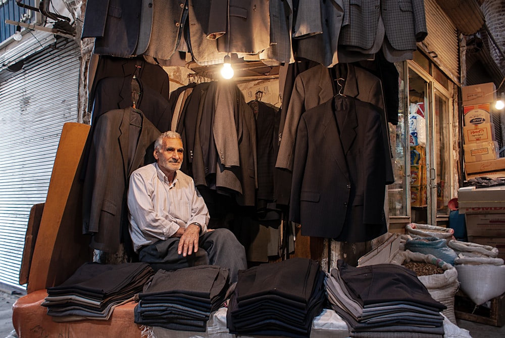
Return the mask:
<svg viewBox="0 0 505 338">
<path fill-rule="evenodd" d="M 457 80 L 460 78 L 460 53 L 456 26 L 435 0 L 425 0 L 424 6 L 428 36 L 422 43 L 427 47 L 427 52 L 436 53 L 434 59 L 440 68 L 449 72 L 448 75 L 453 80 Z"/>
</svg>

